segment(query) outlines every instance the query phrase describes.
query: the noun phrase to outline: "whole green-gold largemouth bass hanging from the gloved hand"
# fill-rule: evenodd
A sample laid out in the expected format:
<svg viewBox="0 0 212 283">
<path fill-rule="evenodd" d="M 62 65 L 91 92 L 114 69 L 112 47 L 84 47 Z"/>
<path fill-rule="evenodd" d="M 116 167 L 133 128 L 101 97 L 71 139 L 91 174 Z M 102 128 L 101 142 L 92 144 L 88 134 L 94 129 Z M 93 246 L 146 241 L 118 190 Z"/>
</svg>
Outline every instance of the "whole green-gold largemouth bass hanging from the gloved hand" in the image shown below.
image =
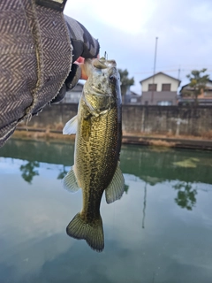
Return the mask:
<svg viewBox="0 0 212 283">
<path fill-rule="evenodd" d="M 104 57 L 85 61 L 88 79 L 79 100 L 78 113 L 63 134 L 76 134 L 74 164 L 63 180 L 64 188 L 82 189 L 82 210 L 66 228 L 75 239 L 84 239 L 95 251 L 104 249 L 100 205 L 113 203 L 124 193 L 120 169 L 122 102 L 120 76 L 115 60 Z"/>
</svg>

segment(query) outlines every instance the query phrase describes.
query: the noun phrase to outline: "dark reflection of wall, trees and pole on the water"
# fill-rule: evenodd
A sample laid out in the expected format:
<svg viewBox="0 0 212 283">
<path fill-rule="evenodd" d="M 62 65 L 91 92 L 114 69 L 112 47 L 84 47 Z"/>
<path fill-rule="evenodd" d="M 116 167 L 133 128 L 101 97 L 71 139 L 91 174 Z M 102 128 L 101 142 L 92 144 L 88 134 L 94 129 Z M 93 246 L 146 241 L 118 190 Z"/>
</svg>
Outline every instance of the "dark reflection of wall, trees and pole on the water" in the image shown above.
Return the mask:
<svg viewBox="0 0 212 283">
<path fill-rule="evenodd" d="M 32 150 L 33 149 L 33 150 Z M 32 184 L 34 176 L 39 175 L 40 163 L 62 164 L 58 169 L 57 179 L 62 180 L 73 163 L 74 144 L 33 142 L 10 140 L 0 149 L 1 157 L 21 158 L 27 160 L 21 164 L 21 176 Z M 68 153 L 68 154 L 67 154 Z M 205 182 L 212 184 L 212 154 L 211 152 L 195 151 L 191 157 L 189 150 L 167 149 L 160 152 L 155 149 L 123 146 L 121 152 L 121 167 L 124 173 L 131 173 L 145 182 L 147 186 L 155 186 L 165 180 L 178 180 L 172 187 L 177 191 L 174 200 L 181 208 L 193 210 L 197 201 L 197 189 L 193 183 Z M 68 169 L 67 169 L 68 168 Z M 125 193 L 129 186 L 125 184 Z M 146 198 L 144 207 L 146 207 Z M 145 213 L 144 213 L 145 214 Z M 144 224 L 142 225 L 144 226 Z"/>
</svg>

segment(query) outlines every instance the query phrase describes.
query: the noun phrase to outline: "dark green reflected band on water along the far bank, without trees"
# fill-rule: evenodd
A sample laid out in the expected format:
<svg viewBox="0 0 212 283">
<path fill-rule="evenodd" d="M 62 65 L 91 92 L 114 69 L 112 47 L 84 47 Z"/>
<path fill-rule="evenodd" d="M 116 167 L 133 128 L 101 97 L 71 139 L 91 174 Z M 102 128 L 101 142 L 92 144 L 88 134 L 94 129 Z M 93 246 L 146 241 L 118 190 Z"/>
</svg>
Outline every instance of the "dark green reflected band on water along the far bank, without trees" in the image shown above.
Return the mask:
<svg viewBox="0 0 212 283">
<path fill-rule="evenodd" d="M 73 150 L 74 143 L 48 144 L 10 140 L 0 149 L 0 157 L 69 166 L 73 164 Z M 212 184 L 212 152 L 173 149 L 159 152 L 155 149 L 124 145 L 121 151 L 121 168 L 123 172 L 133 174 L 151 186 L 166 180 Z"/>
</svg>

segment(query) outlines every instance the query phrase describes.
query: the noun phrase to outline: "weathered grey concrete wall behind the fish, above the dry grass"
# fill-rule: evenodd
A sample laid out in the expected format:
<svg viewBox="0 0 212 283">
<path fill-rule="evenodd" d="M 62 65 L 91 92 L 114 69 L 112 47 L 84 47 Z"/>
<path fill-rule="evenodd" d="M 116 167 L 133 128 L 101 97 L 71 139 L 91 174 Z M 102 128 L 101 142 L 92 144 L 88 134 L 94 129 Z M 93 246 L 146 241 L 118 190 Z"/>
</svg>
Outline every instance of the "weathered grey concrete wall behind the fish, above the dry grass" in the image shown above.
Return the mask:
<svg viewBox="0 0 212 283">
<path fill-rule="evenodd" d="M 77 104 L 46 106 L 28 126 L 60 129 L 77 114 Z M 212 107 L 123 105 L 123 130 L 129 134 L 201 136 L 212 131 Z"/>
</svg>

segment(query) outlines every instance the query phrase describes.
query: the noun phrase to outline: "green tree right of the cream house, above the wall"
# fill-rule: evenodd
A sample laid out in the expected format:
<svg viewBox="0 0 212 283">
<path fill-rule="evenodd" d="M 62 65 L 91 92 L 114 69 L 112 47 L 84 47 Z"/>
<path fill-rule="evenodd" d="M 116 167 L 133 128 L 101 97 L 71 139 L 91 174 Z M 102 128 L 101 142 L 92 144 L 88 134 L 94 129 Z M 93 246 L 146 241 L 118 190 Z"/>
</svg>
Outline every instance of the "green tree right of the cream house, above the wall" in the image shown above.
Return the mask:
<svg viewBox="0 0 212 283">
<path fill-rule="evenodd" d="M 195 104 L 198 104 L 198 96 L 200 96 L 201 93 L 206 90 L 206 84 L 209 80 L 209 75 L 201 75 L 206 71 L 207 69 L 202 69 L 201 71 L 193 70 L 190 74 L 186 75 L 186 77 L 190 80 L 188 86 L 191 88 L 191 90 L 183 89 L 182 96 L 193 96 Z"/>
</svg>

